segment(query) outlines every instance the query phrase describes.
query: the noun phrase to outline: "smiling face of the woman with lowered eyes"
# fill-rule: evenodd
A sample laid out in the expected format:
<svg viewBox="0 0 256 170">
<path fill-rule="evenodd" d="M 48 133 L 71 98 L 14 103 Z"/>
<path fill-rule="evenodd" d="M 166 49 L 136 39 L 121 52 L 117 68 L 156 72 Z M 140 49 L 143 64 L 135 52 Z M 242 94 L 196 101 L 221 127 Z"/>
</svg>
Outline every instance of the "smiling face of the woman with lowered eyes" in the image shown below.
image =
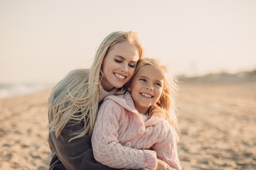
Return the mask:
<svg viewBox="0 0 256 170">
<path fill-rule="evenodd" d="M 110 48 L 102 63 L 105 79 L 102 87 L 106 91 L 120 88 L 127 83 L 135 71 L 139 60 L 139 50 L 136 45 L 127 41 L 118 42 Z"/>
</svg>

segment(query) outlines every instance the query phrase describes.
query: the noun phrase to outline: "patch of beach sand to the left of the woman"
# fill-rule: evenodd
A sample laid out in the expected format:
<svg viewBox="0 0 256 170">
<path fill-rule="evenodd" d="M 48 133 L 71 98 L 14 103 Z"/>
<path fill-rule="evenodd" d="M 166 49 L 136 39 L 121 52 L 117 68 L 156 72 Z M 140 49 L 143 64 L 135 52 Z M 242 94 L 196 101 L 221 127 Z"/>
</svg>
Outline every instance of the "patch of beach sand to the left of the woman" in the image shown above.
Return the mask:
<svg viewBox="0 0 256 170">
<path fill-rule="evenodd" d="M 0 169 L 47 169 L 49 91 L 0 101 Z"/>
</svg>

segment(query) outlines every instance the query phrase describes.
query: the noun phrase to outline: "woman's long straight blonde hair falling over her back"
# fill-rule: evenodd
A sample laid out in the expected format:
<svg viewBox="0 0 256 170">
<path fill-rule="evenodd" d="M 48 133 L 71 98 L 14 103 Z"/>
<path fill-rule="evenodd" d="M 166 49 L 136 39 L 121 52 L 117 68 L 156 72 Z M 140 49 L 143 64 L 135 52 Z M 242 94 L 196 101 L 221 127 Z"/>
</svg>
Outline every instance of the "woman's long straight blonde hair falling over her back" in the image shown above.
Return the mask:
<svg viewBox="0 0 256 170">
<path fill-rule="evenodd" d="M 116 31 L 107 35 L 95 53 L 95 60 L 90 69 L 75 69 L 71 71 L 54 88 L 48 98 L 49 128 L 60 135 L 67 123 L 83 123 L 83 128 L 75 132 L 70 139 L 74 140 L 89 132 L 95 124 L 100 98 L 100 84 L 104 79 L 102 62 L 107 52 L 118 42 L 127 41 L 136 45 L 139 58 L 144 56 L 144 46 L 137 33 L 132 31 Z M 124 91 L 124 89 L 119 89 Z M 119 92 L 120 93 L 120 92 Z"/>
</svg>

